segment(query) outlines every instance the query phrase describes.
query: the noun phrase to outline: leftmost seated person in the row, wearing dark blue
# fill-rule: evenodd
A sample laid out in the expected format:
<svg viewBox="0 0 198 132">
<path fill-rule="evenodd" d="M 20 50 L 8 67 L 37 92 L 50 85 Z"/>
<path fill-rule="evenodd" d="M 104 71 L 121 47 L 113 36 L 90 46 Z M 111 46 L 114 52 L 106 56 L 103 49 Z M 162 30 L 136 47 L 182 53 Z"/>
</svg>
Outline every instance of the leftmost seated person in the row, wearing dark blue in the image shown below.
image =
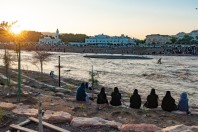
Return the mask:
<svg viewBox="0 0 198 132">
<path fill-rule="evenodd" d="M 76 92 L 76 100 L 77 101 L 86 101 L 87 100 L 87 94 L 85 92 L 85 84 L 82 83 L 80 87 L 78 87 Z"/>
</svg>

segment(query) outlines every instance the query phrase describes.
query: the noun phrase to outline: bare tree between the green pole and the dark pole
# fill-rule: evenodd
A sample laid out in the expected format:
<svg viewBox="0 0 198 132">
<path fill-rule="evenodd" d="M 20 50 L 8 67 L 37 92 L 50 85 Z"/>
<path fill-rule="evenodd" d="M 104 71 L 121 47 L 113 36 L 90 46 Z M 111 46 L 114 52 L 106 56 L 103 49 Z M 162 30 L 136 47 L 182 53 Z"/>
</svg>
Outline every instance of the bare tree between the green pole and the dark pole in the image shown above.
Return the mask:
<svg viewBox="0 0 198 132">
<path fill-rule="evenodd" d="M 35 51 L 33 55 L 34 63 L 40 63 L 41 66 L 41 74 L 43 75 L 43 63 L 49 60 L 49 57 L 52 54 L 47 51 Z"/>
</svg>

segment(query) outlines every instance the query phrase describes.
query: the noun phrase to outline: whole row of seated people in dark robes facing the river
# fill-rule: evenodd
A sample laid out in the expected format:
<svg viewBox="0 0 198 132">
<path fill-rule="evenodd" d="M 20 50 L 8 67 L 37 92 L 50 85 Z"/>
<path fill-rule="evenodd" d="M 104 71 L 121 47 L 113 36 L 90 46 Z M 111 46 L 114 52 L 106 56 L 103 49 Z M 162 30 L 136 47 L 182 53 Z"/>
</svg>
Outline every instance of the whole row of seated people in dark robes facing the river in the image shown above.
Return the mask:
<svg viewBox="0 0 198 132">
<path fill-rule="evenodd" d="M 94 100 L 91 98 L 85 91 L 85 89 L 88 88 L 89 90 L 92 90 L 91 87 L 88 86 L 88 83 L 82 83 L 80 87 L 78 87 L 76 92 L 76 100 L 77 101 L 88 101 L 88 100 Z M 151 93 L 147 96 L 146 103 L 144 103 L 143 107 L 146 108 L 157 108 L 158 107 L 158 95 L 155 93 L 155 89 L 151 89 Z M 99 107 L 104 108 L 105 106 L 109 105 L 109 101 L 107 99 L 105 88 L 102 87 L 100 93 L 97 95 L 97 104 Z M 119 92 L 119 89 L 117 87 L 114 88 L 114 91 L 111 93 L 111 100 L 110 105 L 112 106 L 121 106 L 122 105 L 122 95 Z M 135 89 L 133 94 L 130 97 L 130 107 L 135 109 L 140 109 L 142 105 L 141 96 L 138 94 L 138 90 Z M 190 114 L 189 106 L 188 106 L 188 97 L 187 93 L 183 92 L 180 96 L 180 100 L 178 105 L 175 102 L 175 99 L 171 96 L 171 92 L 167 91 L 166 95 L 164 96 L 161 108 L 164 111 L 184 111 L 186 114 Z"/>
</svg>

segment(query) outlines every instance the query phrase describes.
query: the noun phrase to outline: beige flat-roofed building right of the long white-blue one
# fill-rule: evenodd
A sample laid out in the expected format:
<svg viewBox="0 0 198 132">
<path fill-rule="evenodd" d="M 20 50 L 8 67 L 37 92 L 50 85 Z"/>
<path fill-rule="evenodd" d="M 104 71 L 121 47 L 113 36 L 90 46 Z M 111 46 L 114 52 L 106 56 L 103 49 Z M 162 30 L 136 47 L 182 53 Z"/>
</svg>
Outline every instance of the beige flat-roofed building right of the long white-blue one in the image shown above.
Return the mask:
<svg viewBox="0 0 198 132">
<path fill-rule="evenodd" d="M 171 43 L 171 36 L 151 34 L 146 36 L 146 44 L 167 44 Z"/>
</svg>

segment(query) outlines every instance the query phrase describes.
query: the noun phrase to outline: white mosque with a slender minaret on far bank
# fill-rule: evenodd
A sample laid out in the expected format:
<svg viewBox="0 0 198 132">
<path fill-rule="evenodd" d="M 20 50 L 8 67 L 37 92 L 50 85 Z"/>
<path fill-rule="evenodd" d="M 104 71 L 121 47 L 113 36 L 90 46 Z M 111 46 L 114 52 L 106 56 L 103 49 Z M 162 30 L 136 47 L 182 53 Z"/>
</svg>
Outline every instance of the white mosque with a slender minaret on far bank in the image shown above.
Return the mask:
<svg viewBox="0 0 198 132">
<path fill-rule="evenodd" d="M 49 45 L 57 45 L 61 43 L 61 39 L 59 39 L 59 31 L 56 30 L 56 36 L 54 38 L 44 37 L 39 39 L 39 44 L 49 44 Z"/>
</svg>

